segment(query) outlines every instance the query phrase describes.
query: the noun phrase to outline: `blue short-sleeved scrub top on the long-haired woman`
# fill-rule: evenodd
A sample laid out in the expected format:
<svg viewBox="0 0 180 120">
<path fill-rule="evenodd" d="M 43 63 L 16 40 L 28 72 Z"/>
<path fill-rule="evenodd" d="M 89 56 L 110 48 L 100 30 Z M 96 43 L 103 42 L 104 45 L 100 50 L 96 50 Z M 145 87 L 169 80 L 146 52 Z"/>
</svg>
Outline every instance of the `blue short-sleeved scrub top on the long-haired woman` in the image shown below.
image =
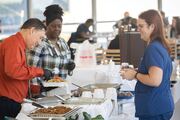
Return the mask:
<svg viewBox="0 0 180 120">
<path fill-rule="evenodd" d="M 135 87 L 136 117 L 156 116 L 174 109 L 170 90 L 172 61 L 165 47 L 157 40 L 147 46 L 138 71 L 148 74 L 151 66 L 157 66 L 163 70 L 162 82 L 160 86 L 152 87 L 137 81 Z"/>
</svg>

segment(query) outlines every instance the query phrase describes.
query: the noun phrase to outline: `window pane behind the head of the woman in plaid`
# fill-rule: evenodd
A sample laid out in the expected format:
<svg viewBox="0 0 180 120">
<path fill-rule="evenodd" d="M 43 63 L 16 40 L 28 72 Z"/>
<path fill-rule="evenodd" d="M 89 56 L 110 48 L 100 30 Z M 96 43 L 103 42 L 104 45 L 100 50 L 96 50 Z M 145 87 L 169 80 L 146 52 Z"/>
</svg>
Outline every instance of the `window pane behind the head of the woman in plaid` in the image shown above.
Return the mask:
<svg viewBox="0 0 180 120">
<path fill-rule="evenodd" d="M 45 19 L 46 6 L 59 4 L 64 10 L 63 32 L 75 31 L 77 25 L 92 18 L 91 0 L 32 0 L 32 17 Z"/>
</svg>

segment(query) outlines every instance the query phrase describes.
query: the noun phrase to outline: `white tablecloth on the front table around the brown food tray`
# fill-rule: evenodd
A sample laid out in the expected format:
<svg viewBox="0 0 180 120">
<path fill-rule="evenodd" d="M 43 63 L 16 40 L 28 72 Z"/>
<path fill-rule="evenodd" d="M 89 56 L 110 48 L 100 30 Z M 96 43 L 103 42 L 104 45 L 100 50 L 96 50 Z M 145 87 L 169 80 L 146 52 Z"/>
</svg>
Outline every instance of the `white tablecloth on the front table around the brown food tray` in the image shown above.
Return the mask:
<svg viewBox="0 0 180 120">
<path fill-rule="evenodd" d="M 56 105 L 61 105 L 61 103 L 57 103 Z M 69 105 L 71 106 L 71 104 Z M 72 106 L 74 105 L 72 104 Z M 83 120 L 82 112 L 87 112 L 92 117 L 95 117 L 101 114 L 105 120 L 108 120 L 112 114 L 112 110 L 114 107 L 110 99 L 107 99 L 103 103 L 100 103 L 100 104 L 86 104 L 86 105 L 76 105 L 76 106 L 82 107 L 82 109 L 77 111 L 77 113 L 79 114 L 79 120 Z M 32 104 L 24 103 L 22 105 L 21 112 L 17 116 L 17 119 L 18 120 L 32 120 L 32 118 L 28 117 L 27 115 L 30 114 L 30 112 L 32 112 L 35 109 L 36 107 L 32 106 Z"/>
</svg>

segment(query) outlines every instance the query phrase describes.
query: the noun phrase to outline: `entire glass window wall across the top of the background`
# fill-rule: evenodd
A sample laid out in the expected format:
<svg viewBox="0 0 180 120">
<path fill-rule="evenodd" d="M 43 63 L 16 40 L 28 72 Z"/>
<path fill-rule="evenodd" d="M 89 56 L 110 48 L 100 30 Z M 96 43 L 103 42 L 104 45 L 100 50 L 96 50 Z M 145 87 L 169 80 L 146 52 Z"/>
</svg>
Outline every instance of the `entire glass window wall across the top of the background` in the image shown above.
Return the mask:
<svg viewBox="0 0 180 120">
<path fill-rule="evenodd" d="M 0 35 L 16 32 L 27 19 L 28 0 L 0 1 Z M 92 18 L 92 0 L 29 0 L 31 17 L 44 20 L 43 11 L 50 4 L 59 4 L 65 11 L 62 34 L 76 31 L 77 26 Z M 157 0 L 96 0 L 97 32 L 113 32 L 113 25 L 123 18 L 125 11 L 137 18 L 147 9 L 157 9 Z M 178 0 L 162 0 L 162 9 L 171 21 L 172 16 L 179 16 Z M 92 28 L 91 28 L 92 29 Z M 1 39 L 1 38 L 0 38 Z"/>
</svg>

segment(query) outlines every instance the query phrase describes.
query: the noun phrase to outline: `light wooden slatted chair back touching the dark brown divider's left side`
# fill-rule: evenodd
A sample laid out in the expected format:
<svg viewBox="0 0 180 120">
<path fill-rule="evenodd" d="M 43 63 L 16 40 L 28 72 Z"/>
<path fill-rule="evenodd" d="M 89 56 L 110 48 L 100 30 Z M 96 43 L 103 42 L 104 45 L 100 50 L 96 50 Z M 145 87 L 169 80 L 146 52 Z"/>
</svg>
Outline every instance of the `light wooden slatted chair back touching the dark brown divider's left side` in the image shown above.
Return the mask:
<svg viewBox="0 0 180 120">
<path fill-rule="evenodd" d="M 112 59 L 116 65 L 120 65 L 120 49 L 106 49 L 103 55 L 105 60 L 110 61 Z"/>
</svg>

